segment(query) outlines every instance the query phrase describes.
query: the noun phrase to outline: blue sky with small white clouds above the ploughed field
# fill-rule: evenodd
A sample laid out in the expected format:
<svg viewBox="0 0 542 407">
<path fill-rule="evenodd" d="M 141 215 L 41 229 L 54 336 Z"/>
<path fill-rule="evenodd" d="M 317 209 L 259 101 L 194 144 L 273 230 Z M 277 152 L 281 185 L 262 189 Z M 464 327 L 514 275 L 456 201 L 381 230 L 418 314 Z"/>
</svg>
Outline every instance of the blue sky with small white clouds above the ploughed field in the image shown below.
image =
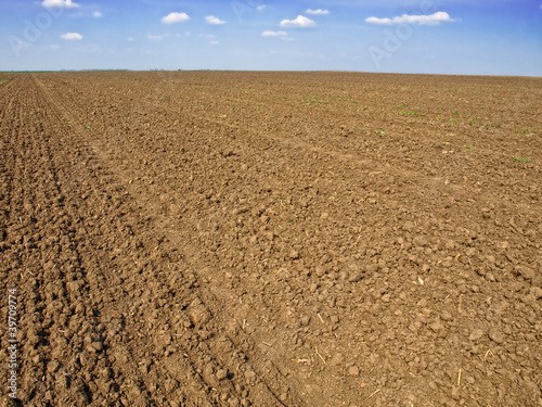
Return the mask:
<svg viewBox="0 0 542 407">
<path fill-rule="evenodd" d="M 542 76 L 542 0 L 2 0 L 0 71 Z"/>
</svg>

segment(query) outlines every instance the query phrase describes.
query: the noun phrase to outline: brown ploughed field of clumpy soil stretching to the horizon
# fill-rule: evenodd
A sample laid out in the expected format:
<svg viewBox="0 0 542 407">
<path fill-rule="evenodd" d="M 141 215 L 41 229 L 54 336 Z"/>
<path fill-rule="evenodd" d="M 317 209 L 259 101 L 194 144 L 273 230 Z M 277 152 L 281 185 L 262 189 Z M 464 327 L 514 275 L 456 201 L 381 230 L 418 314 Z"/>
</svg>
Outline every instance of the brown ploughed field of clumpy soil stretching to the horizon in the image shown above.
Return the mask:
<svg viewBox="0 0 542 407">
<path fill-rule="evenodd" d="M 542 79 L 0 79 L 4 405 L 542 406 Z"/>
</svg>

